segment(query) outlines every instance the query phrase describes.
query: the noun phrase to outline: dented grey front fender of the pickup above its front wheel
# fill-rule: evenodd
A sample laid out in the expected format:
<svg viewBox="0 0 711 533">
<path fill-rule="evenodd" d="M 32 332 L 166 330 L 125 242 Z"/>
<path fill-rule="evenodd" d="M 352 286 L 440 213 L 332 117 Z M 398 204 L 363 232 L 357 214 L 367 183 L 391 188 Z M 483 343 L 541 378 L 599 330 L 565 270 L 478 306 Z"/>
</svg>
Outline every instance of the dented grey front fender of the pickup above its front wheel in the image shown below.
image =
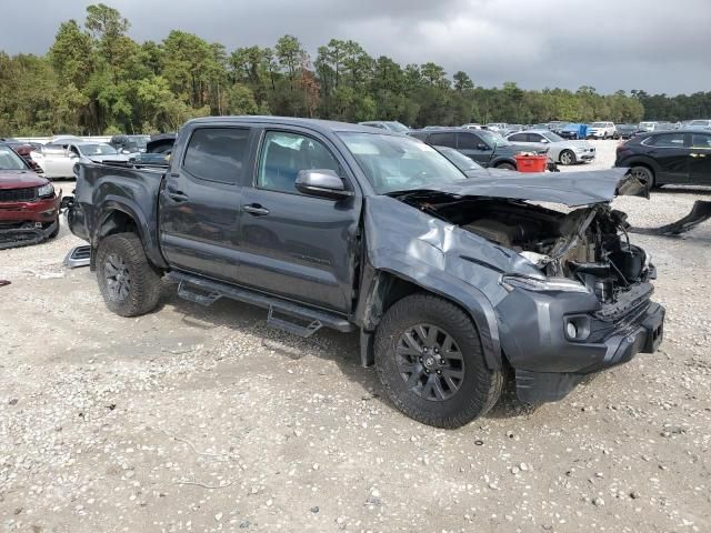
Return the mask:
<svg viewBox="0 0 711 533">
<path fill-rule="evenodd" d="M 494 312 L 505 298 L 501 275 L 541 276 L 521 255 L 389 197 L 365 201 L 367 260 L 424 290 L 454 301 L 479 330 L 489 368 L 501 366 Z"/>
</svg>

